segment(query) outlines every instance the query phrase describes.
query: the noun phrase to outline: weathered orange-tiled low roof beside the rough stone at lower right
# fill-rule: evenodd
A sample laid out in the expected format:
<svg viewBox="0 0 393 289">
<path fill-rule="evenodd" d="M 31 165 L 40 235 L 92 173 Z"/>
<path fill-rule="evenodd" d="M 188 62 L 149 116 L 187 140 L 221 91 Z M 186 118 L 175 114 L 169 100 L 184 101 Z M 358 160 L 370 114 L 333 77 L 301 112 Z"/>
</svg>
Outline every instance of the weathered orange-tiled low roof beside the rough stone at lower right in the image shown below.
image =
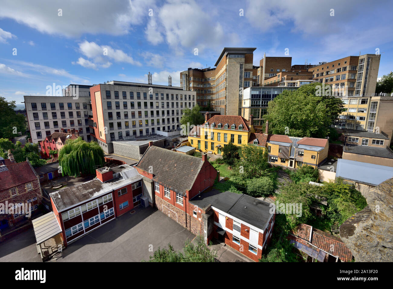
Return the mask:
<svg viewBox="0 0 393 289">
<path fill-rule="evenodd" d="M 310 239 L 311 235 L 311 239 Z M 332 234 L 315 229 L 310 225 L 300 224 L 292 230 L 289 236 L 291 240 L 307 245 L 311 249 L 329 252 L 333 256 L 338 256 L 340 260 L 349 262 L 352 260 L 352 253 L 342 240 Z M 314 247 L 315 246 L 315 247 Z M 319 250 L 317 250 L 319 252 Z"/>
</svg>

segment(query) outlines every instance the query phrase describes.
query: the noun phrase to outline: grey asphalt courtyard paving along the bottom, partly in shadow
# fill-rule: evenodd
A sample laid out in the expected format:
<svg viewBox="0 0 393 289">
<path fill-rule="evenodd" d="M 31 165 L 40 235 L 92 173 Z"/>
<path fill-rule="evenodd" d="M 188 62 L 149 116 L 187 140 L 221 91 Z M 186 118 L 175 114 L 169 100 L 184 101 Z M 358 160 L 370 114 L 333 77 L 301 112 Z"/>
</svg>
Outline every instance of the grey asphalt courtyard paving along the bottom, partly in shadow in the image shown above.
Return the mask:
<svg viewBox="0 0 393 289">
<path fill-rule="evenodd" d="M 49 262 L 140 262 L 158 247 L 173 245 L 182 251 L 186 240 L 195 235 L 162 212 L 151 207 L 134 209 L 70 244 Z M 195 242 L 195 240 L 194 240 Z M 215 242 L 221 262 L 247 262 L 239 252 Z M 149 251 L 150 249 L 150 251 Z M 0 243 L 0 262 L 41 262 L 33 229 Z"/>
</svg>

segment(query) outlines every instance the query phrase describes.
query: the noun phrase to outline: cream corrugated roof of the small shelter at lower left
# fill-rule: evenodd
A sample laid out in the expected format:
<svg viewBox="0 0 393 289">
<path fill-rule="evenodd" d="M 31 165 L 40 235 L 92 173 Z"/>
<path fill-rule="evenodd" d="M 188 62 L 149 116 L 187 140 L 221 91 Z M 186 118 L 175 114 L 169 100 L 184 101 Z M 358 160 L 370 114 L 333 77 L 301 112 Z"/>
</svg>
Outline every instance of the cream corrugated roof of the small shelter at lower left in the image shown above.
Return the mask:
<svg viewBox="0 0 393 289">
<path fill-rule="evenodd" d="M 54 212 L 50 212 L 33 220 L 33 229 L 37 245 L 61 232 Z"/>
</svg>

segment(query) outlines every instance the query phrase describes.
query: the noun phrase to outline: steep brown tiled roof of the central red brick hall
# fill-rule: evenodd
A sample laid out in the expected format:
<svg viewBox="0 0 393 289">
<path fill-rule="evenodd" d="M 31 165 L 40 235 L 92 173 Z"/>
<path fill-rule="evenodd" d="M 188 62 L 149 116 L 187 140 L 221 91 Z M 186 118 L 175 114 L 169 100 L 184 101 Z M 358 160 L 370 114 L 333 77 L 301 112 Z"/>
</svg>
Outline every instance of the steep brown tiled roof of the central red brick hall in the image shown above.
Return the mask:
<svg viewBox="0 0 393 289">
<path fill-rule="evenodd" d="M 146 172 L 152 168 L 153 181 L 185 195 L 185 191 L 192 188 L 203 163 L 199 157 L 150 146 L 136 166 Z"/>
</svg>

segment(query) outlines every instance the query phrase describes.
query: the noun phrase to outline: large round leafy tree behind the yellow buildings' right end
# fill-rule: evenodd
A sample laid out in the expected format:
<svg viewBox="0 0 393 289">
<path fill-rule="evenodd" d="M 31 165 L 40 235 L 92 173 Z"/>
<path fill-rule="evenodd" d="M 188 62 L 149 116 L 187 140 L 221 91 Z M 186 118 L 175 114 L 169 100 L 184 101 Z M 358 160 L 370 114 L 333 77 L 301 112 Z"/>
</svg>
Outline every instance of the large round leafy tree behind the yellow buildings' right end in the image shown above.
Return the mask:
<svg viewBox="0 0 393 289">
<path fill-rule="evenodd" d="M 342 110 L 342 101 L 334 96 L 317 96 L 317 85 L 312 83 L 298 90 L 285 90 L 268 103 L 267 114 L 271 134 L 288 134 L 294 137 L 321 137 Z"/>
</svg>

